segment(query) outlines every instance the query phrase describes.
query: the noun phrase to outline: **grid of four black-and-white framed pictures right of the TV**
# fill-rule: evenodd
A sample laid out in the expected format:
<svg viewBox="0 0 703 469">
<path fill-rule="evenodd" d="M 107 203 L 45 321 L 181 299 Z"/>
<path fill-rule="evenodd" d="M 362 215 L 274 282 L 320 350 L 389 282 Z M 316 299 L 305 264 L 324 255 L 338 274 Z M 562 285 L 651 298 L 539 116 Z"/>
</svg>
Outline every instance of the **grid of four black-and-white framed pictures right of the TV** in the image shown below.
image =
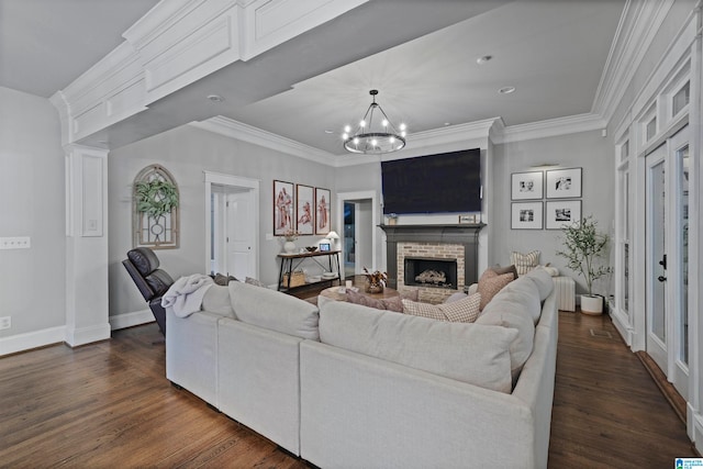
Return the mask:
<svg viewBox="0 0 703 469">
<path fill-rule="evenodd" d="M 561 230 L 581 220 L 582 168 L 513 172 L 511 228 Z"/>
</svg>

